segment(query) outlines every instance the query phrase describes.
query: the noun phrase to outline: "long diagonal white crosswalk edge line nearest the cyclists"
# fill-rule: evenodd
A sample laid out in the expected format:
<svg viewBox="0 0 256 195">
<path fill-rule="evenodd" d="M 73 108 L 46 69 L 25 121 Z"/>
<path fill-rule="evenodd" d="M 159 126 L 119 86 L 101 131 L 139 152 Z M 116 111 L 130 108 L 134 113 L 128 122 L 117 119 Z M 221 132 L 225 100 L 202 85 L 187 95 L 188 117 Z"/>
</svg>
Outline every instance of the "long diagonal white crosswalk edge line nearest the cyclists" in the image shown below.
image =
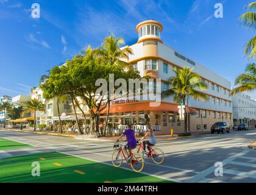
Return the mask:
<svg viewBox="0 0 256 195">
<path fill-rule="evenodd" d="M 235 154 L 233 155 L 232 157 L 229 157 L 229 158 L 226 158 L 225 160 L 221 161 L 222 162 L 222 165 L 226 165 L 227 163 L 229 163 L 230 161 L 232 160 L 235 160 L 235 158 L 241 156 L 241 155 L 244 155 L 246 154 L 247 152 L 249 152 L 249 150 L 246 150 L 246 151 L 242 151 L 238 154 Z M 215 166 L 211 166 L 210 168 L 208 169 L 205 169 L 204 171 L 200 172 L 199 174 L 197 174 L 196 176 L 193 176 L 191 177 L 190 179 L 187 179 L 185 180 L 186 183 L 194 183 L 194 182 L 197 182 L 199 180 L 201 180 L 202 178 L 208 176 L 209 174 L 211 174 L 212 172 L 214 172 L 216 169 Z"/>
</svg>

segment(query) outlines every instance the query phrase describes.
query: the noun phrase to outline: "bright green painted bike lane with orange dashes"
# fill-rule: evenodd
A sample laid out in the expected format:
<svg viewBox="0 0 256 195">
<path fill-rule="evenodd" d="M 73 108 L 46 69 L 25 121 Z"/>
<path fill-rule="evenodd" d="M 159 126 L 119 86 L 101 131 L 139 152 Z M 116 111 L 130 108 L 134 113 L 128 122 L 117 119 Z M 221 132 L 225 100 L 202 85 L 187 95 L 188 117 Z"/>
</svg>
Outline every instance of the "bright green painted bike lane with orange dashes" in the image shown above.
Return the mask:
<svg viewBox="0 0 256 195">
<path fill-rule="evenodd" d="M 115 168 L 107 163 L 89 160 L 68 153 L 49 152 L 57 149 L 53 146 L 48 146 L 42 150 L 42 147 L 33 147 L 29 144 L 7 139 L 2 140 L 5 140 L 2 143 L 0 142 L 0 147 L 5 148 L 2 151 L 14 155 L 13 157 L 0 159 L 0 182 L 171 182 L 147 174 L 135 173 L 128 168 Z M 16 147 L 12 148 L 13 146 Z M 19 146 L 20 148 L 18 148 Z M 63 146 L 66 145 L 64 144 Z M 70 152 L 70 149 L 62 148 L 60 150 Z M 38 154 L 30 154 L 34 152 Z M 31 173 L 33 169 L 32 163 L 35 162 L 40 165 L 39 177 L 34 177 Z"/>
</svg>

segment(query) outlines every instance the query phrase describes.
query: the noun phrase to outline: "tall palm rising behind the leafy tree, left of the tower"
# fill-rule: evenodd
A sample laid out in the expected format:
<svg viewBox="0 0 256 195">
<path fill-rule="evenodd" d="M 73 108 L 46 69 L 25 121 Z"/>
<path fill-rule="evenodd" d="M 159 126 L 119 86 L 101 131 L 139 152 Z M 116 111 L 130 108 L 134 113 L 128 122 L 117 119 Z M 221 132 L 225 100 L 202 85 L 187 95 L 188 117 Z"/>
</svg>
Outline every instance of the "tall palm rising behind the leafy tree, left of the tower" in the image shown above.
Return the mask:
<svg viewBox="0 0 256 195">
<path fill-rule="evenodd" d="M 105 63 L 110 65 L 120 65 L 123 67 L 130 67 L 129 63 L 124 62 L 122 59 L 129 60 L 129 55 L 132 55 L 132 49 L 129 47 L 121 49 L 121 45 L 124 45 L 124 40 L 121 37 L 115 38 L 112 35 L 106 37 L 99 49 L 92 51 L 92 54 L 95 55 L 99 60 L 102 60 Z M 108 116 L 110 110 L 110 98 L 108 96 L 107 100 L 107 116 L 104 128 L 104 136 L 107 130 L 108 125 Z"/>
</svg>

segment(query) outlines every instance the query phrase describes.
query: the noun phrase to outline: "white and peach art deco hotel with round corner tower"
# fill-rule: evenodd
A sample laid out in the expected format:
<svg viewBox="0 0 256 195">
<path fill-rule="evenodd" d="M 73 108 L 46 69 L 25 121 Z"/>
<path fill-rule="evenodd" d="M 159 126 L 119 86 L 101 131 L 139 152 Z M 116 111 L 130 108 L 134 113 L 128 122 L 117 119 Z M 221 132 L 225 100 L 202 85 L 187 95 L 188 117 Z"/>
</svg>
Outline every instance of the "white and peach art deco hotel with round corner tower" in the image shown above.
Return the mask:
<svg viewBox="0 0 256 195">
<path fill-rule="evenodd" d="M 210 69 L 186 57 L 175 49 L 169 48 L 160 38 L 162 24 L 157 21 L 143 21 L 136 27 L 137 43 L 129 46 L 133 55 L 127 61 L 137 69 L 141 76 L 150 73 L 154 79 L 162 79 L 162 91 L 168 88 L 165 81 L 174 76 L 173 68 L 190 66 L 199 73 L 208 84 L 208 101 L 189 98 L 190 131 L 209 131 L 214 122 L 226 121 L 232 124 L 232 98 L 229 93 L 231 83 Z M 152 126 L 158 126 L 157 134 L 183 132 L 184 122 L 180 121 L 176 102 L 171 97 L 162 99 L 158 107 L 150 107 L 149 101 L 119 102 L 110 107 L 110 123 L 113 124 L 145 124 L 144 115 L 148 115 Z M 193 115 L 192 115 L 193 114 Z"/>
</svg>

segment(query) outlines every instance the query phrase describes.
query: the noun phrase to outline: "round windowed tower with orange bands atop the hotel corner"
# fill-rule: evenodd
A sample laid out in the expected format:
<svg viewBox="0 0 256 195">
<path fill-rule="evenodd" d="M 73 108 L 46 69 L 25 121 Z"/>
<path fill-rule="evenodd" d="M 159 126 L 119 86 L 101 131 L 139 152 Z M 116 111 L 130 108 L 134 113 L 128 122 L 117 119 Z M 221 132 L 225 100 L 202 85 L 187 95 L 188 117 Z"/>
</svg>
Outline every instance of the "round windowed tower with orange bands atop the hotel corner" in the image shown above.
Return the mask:
<svg viewBox="0 0 256 195">
<path fill-rule="evenodd" d="M 154 20 L 143 21 L 137 25 L 136 30 L 138 32 L 137 43 L 140 43 L 146 40 L 156 40 L 163 43 L 163 41 L 160 38 L 160 32 L 163 30 L 163 26 L 158 21 L 154 21 Z"/>
</svg>

